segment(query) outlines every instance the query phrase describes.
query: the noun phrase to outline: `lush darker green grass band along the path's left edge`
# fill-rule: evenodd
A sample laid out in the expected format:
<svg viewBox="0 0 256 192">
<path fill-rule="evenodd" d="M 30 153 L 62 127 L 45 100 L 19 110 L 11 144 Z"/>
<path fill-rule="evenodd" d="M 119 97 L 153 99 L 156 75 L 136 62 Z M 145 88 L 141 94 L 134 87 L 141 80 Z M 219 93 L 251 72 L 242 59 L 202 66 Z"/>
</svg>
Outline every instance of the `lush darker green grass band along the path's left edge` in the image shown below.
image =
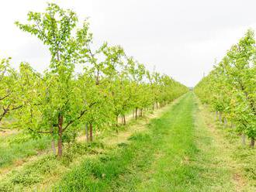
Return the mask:
<svg viewBox="0 0 256 192">
<path fill-rule="evenodd" d="M 155 154 L 163 146 L 166 135 L 171 134 L 171 122 L 182 115 L 182 98 L 161 118 L 150 121 L 147 132 L 130 137 L 128 144 L 120 145 L 111 153 L 95 159 L 86 159 L 54 187 L 61 191 L 120 191 L 133 190 L 140 183 L 148 167 L 154 163 Z M 143 175 L 143 174 L 142 174 Z"/>
</svg>

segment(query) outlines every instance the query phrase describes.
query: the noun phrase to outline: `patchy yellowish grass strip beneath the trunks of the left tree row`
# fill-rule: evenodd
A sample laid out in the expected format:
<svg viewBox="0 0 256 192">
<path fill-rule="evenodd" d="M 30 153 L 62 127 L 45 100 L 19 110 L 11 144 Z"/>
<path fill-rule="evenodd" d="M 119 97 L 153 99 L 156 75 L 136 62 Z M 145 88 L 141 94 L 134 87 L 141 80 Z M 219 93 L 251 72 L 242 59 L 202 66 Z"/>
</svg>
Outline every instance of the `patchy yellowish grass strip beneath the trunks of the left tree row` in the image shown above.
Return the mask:
<svg viewBox="0 0 256 192">
<path fill-rule="evenodd" d="M 98 159 L 102 154 L 111 152 L 125 146 L 127 139 L 134 132 L 143 132 L 150 118 L 161 115 L 167 108 L 147 114 L 136 122 L 131 120 L 126 126 L 119 127 L 119 134 L 113 132 L 101 132 L 95 138 L 95 142 L 85 144 L 85 138 L 79 137 L 79 142 L 68 147 L 65 145 L 63 158 L 56 159 L 50 153 L 29 158 L 29 162 L 21 166 L 13 167 L 12 171 L 0 176 L 0 191 L 44 191 L 50 189 L 53 183 L 67 174 L 70 170 L 79 166 L 85 159 Z M 50 144 L 50 142 L 48 142 Z"/>
</svg>

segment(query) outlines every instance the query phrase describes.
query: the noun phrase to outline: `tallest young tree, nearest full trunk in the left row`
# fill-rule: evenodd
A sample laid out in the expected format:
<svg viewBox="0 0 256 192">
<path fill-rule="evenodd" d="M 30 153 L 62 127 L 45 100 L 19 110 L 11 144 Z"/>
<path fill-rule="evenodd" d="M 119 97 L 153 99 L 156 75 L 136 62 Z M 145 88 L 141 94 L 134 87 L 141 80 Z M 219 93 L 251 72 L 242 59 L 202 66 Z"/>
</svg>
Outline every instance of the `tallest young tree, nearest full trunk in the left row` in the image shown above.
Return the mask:
<svg viewBox="0 0 256 192">
<path fill-rule="evenodd" d="M 37 108 L 38 111 L 31 117 L 36 119 L 36 122 L 29 129 L 36 133 L 57 135 L 57 155 L 62 156 L 64 131 L 88 110 L 88 106 L 85 106 L 80 98 L 81 91 L 74 78 L 78 43 L 72 32 L 78 18 L 71 10 L 64 10 L 49 3 L 46 12 L 29 12 L 28 21 L 28 24 L 16 22 L 16 25 L 38 37 L 49 47 L 51 54 L 50 70 L 43 76 L 45 89 L 43 94 L 40 94 L 42 102 L 40 108 Z M 29 105 L 26 106 L 30 108 Z M 29 125 L 24 126 L 28 128 Z M 49 131 L 49 128 L 53 130 Z"/>
</svg>

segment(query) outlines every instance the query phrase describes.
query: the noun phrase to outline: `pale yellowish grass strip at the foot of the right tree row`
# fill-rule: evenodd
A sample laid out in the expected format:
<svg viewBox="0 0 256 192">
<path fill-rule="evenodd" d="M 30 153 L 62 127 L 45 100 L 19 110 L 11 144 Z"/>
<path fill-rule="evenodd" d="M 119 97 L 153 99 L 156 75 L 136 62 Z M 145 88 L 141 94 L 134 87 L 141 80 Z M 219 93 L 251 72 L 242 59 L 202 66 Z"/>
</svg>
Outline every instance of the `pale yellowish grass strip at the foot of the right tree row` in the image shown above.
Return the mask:
<svg viewBox="0 0 256 192">
<path fill-rule="evenodd" d="M 228 158 L 232 166 L 233 180 L 239 191 L 256 191 L 256 150 L 247 145 L 242 146 L 240 135 L 234 129 L 216 121 L 206 105 L 200 105 L 200 115 L 206 123 L 222 156 Z"/>
</svg>

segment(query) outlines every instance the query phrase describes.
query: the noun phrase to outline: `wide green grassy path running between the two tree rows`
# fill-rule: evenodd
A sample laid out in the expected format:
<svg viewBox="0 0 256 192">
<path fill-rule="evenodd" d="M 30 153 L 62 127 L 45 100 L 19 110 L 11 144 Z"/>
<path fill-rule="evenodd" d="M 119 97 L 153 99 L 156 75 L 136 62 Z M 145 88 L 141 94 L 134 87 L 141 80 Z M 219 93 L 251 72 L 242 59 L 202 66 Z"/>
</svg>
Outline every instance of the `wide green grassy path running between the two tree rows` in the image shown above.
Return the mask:
<svg viewBox="0 0 256 192">
<path fill-rule="evenodd" d="M 235 179 L 234 162 L 206 127 L 192 93 L 129 140 L 86 159 L 55 190 L 254 191 Z"/>
</svg>

